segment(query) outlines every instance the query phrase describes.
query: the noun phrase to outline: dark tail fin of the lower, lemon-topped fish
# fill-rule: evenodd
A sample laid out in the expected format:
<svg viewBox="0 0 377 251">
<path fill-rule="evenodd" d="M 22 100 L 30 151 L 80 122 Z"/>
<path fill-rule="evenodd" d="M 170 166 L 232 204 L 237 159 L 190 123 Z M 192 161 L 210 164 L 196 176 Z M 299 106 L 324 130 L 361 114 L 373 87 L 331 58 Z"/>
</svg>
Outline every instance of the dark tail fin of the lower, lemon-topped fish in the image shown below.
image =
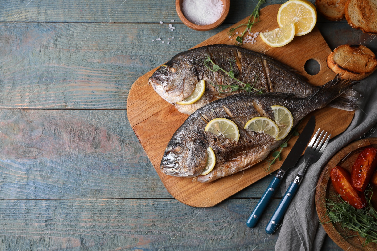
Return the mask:
<svg viewBox="0 0 377 251">
<path fill-rule="evenodd" d="M 335 78 L 326 84 L 319 87 L 319 90 L 316 91 L 316 93 L 312 94 L 308 97 L 308 99 L 312 99 L 313 97 L 322 99 L 322 102 L 324 102 L 326 105 L 342 95 L 343 93 L 346 93 L 346 91 L 351 88 L 353 85 L 359 83 L 359 81 L 354 81 L 351 79 L 342 79 L 340 78 L 341 75 L 337 74 Z M 348 91 L 350 94 L 352 91 Z M 355 93 L 354 93 L 355 94 Z M 345 99 L 347 97 L 348 99 Z M 348 105 L 350 105 L 352 102 L 352 99 L 355 99 L 356 97 L 349 96 L 346 94 L 346 96 L 343 96 L 342 102 L 347 102 Z M 338 107 L 344 107 L 346 109 L 346 105 L 342 102 L 338 102 Z M 338 108 L 337 107 L 337 108 Z"/>
</svg>

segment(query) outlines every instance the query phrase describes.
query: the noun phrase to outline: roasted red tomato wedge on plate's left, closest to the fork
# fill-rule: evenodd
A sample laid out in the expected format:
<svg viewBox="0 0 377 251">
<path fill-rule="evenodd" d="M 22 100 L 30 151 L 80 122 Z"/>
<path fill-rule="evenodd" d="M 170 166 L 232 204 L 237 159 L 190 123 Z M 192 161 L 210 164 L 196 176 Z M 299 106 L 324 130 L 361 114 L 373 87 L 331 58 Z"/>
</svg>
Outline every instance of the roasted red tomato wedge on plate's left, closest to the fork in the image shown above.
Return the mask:
<svg viewBox="0 0 377 251">
<path fill-rule="evenodd" d="M 352 207 L 361 209 L 366 205 L 365 195 L 357 191 L 351 185 L 349 173 L 341 166 L 336 166 L 330 173 L 331 183 L 337 193 L 344 201 L 347 201 Z"/>
</svg>

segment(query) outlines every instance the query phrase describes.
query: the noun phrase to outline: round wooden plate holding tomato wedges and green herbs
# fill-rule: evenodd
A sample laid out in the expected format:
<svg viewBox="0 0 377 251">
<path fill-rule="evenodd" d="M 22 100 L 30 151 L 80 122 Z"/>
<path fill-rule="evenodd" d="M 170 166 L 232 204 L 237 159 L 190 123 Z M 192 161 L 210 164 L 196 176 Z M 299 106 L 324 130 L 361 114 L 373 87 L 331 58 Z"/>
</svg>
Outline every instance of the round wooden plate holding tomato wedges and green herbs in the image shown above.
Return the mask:
<svg viewBox="0 0 377 251">
<path fill-rule="evenodd" d="M 325 201 L 323 198 L 329 198 L 331 193 L 335 193 L 333 186 L 331 185 L 331 180 L 329 180 L 329 175 L 331 169 L 335 166 L 342 166 L 346 169 L 349 173 L 351 173 L 352 166 L 359 156 L 360 152 L 363 151 L 366 147 L 374 147 L 377 148 L 377 138 L 368 138 L 356 141 L 354 143 L 349 144 L 348 146 L 342 148 L 339 152 L 337 152 L 333 158 L 329 160 L 326 164 L 325 168 L 323 169 L 321 175 L 319 176 L 319 180 L 317 183 L 316 189 L 316 208 L 318 217 L 321 222 L 327 222 L 330 219 L 326 216 L 326 207 Z M 372 196 L 372 205 L 374 208 L 377 208 L 377 187 L 373 186 L 373 196 Z M 330 236 L 330 238 L 341 248 L 347 251 L 372 251 L 377 250 L 376 243 L 369 243 L 365 247 L 362 247 L 362 243 L 365 241 L 364 238 L 357 235 L 355 231 L 348 231 L 345 232 L 342 228 L 337 224 L 333 225 L 331 222 L 323 224 L 323 228 L 325 228 L 326 233 Z M 353 237 L 346 236 L 352 236 Z"/>
</svg>

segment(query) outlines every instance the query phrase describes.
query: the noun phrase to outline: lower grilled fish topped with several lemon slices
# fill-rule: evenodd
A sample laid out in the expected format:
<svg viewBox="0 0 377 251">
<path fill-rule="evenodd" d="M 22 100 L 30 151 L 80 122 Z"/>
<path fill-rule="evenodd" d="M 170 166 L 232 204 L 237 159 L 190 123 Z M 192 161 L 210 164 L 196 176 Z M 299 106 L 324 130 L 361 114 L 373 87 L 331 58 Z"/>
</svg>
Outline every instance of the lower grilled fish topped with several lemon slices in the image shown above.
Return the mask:
<svg viewBox="0 0 377 251">
<path fill-rule="evenodd" d="M 264 116 L 274 121 L 271 106 L 282 105 L 290 110 L 295 126 L 308 113 L 324 107 L 354 84 L 356 82 L 349 79 L 336 78 L 304 98 L 295 97 L 293 93 L 248 92 L 213 101 L 191 114 L 173 134 L 160 169 L 171 176 L 197 176 L 195 179 L 200 182 L 237 173 L 266 158 L 283 141 L 277 141 L 268 134 L 243 129 L 248 120 Z M 218 117 L 230 119 L 238 125 L 238 141 L 204 131 L 207 123 Z M 208 146 L 215 152 L 216 164 L 210 173 L 198 176 L 205 167 Z"/>
</svg>

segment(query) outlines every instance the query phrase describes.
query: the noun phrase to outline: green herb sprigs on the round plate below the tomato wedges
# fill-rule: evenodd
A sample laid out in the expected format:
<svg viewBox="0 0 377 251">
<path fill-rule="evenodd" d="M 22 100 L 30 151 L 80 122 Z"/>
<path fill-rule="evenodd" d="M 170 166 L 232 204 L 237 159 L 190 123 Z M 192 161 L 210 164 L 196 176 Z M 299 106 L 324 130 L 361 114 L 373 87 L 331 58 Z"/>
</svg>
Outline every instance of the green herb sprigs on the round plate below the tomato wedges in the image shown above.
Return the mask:
<svg viewBox="0 0 377 251">
<path fill-rule="evenodd" d="M 371 189 L 365 192 L 368 193 L 370 191 Z M 333 222 L 334 225 L 339 224 L 346 231 L 353 230 L 358 232 L 359 235 L 352 236 L 365 238 L 362 246 L 366 246 L 370 242 L 377 242 L 377 211 L 372 207 L 370 199 L 367 202 L 367 207 L 362 209 L 352 207 L 348 202 L 343 201 L 338 194 L 333 194 L 331 198 L 324 199 L 326 200 L 326 215 L 330 218 L 328 222 Z M 320 224 L 328 222 L 320 222 Z M 352 236 L 344 237 L 349 238 Z"/>
</svg>

